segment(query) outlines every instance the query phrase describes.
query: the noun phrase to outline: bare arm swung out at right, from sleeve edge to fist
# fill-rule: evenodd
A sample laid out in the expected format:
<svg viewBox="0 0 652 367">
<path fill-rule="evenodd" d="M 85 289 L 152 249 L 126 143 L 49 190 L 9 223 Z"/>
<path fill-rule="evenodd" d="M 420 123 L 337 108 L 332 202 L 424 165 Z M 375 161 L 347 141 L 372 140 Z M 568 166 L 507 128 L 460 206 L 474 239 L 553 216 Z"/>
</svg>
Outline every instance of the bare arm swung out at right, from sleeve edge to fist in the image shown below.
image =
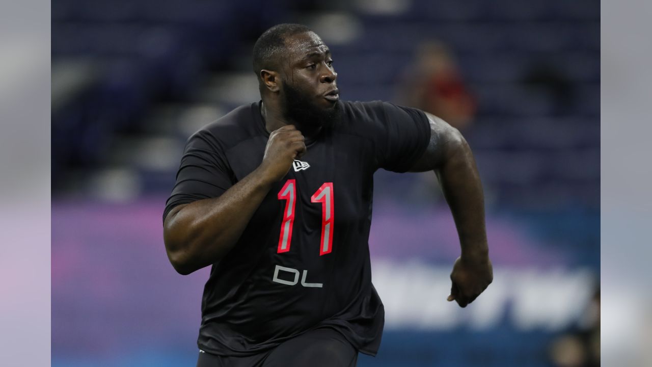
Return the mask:
<svg viewBox="0 0 652 367">
<path fill-rule="evenodd" d="M 434 170 L 455 220 L 462 255 L 451 272 L 451 295 L 461 307 L 473 302 L 492 282 L 484 226 L 484 195 L 469 144 L 460 132 L 427 112 L 430 142 L 410 172 Z"/>
</svg>

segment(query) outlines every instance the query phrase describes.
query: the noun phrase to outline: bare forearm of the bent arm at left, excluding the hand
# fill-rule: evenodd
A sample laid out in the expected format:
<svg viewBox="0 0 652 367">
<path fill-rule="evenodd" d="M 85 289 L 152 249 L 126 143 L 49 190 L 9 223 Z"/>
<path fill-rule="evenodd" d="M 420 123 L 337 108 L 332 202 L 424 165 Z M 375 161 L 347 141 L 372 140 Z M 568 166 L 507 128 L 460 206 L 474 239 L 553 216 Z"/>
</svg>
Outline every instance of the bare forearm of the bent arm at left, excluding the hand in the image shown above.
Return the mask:
<svg viewBox="0 0 652 367">
<path fill-rule="evenodd" d="M 240 238 L 272 183 L 258 168 L 220 197 L 198 200 L 168 214 L 164 240 L 175 270 L 190 274 L 222 259 Z"/>
</svg>

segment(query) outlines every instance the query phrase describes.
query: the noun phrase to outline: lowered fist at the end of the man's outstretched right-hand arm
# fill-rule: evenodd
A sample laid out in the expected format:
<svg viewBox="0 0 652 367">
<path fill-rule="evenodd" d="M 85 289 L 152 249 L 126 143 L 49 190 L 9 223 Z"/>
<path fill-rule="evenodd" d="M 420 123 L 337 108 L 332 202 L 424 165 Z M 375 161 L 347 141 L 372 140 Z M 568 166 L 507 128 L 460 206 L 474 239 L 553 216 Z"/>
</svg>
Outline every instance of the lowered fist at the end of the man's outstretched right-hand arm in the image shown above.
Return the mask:
<svg viewBox="0 0 652 367">
<path fill-rule="evenodd" d="M 460 307 L 466 307 L 494 280 L 494 270 L 489 257 L 458 257 L 452 266 L 451 295 Z"/>
</svg>

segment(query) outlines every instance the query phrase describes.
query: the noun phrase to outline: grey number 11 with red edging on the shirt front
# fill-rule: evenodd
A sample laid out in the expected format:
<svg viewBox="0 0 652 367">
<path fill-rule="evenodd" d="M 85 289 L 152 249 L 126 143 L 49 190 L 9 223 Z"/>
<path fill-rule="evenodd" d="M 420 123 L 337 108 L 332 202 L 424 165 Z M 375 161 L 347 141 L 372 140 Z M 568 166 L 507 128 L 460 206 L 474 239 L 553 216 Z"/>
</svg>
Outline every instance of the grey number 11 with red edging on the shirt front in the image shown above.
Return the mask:
<svg viewBox="0 0 652 367">
<path fill-rule="evenodd" d="M 278 200 L 287 200 L 281 223 L 281 234 L 278 238 L 278 253 L 289 251 L 296 198 L 296 180 L 288 180 L 281 191 L 278 191 Z M 310 201 L 321 202 L 321 244 L 319 246 L 319 256 L 321 256 L 330 253 L 333 249 L 333 182 L 324 182 L 310 197 Z"/>
</svg>

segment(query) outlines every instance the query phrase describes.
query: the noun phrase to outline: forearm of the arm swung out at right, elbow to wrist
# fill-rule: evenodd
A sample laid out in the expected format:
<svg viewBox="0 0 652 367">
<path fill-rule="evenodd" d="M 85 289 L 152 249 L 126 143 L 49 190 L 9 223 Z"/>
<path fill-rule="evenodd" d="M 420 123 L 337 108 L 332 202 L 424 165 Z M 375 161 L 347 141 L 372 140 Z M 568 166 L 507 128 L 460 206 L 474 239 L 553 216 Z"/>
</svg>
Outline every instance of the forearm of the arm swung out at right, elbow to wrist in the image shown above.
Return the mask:
<svg viewBox="0 0 652 367">
<path fill-rule="evenodd" d="M 486 256 L 484 195 L 473 153 L 459 133 L 447 142 L 446 150 L 446 159 L 436 173 L 451 208 L 462 257 Z"/>
</svg>

